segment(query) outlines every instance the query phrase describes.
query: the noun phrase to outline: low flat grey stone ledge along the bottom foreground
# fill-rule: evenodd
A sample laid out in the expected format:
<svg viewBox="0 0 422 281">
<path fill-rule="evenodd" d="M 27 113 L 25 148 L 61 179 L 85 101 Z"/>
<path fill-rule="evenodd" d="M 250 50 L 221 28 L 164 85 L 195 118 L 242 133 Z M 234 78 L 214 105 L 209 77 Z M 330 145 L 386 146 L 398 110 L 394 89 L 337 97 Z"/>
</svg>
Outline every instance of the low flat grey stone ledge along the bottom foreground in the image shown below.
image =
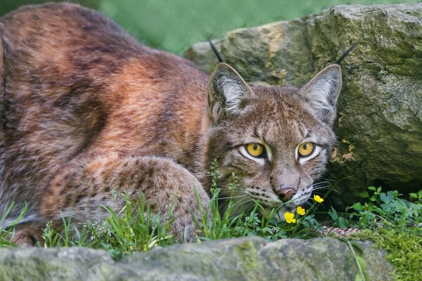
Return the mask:
<svg viewBox="0 0 422 281">
<path fill-rule="evenodd" d="M 392 280 L 385 252 L 357 242 L 371 280 Z M 260 237 L 156 248 L 120 261 L 86 248 L 0 249 L 0 280 L 354 280 L 346 242 Z"/>
</svg>

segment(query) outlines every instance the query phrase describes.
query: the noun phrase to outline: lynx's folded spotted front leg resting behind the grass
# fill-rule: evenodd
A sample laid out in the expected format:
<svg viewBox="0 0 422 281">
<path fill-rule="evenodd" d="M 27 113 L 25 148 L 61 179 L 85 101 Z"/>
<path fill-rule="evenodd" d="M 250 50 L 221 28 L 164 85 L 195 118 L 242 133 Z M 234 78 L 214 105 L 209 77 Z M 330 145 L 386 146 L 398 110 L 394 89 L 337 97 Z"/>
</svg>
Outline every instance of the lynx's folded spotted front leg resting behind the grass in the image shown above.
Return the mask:
<svg viewBox="0 0 422 281">
<path fill-rule="evenodd" d="M 106 218 L 107 211 L 124 206 L 124 198 L 115 196 L 123 192 L 131 200 L 141 197 L 141 192 L 151 209 L 165 217 L 174 205 L 172 233 L 179 240 L 194 237 L 193 214 L 199 218 L 195 188 L 203 204 L 209 202 L 202 185 L 186 169 L 169 159 L 160 157 L 134 157 L 110 153 L 94 157 L 79 164 L 72 164 L 51 182 L 41 204 L 41 213 L 49 219 L 63 214 L 72 221 L 83 223 Z M 113 196 L 114 195 L 114 196 Z"/>
</svg>

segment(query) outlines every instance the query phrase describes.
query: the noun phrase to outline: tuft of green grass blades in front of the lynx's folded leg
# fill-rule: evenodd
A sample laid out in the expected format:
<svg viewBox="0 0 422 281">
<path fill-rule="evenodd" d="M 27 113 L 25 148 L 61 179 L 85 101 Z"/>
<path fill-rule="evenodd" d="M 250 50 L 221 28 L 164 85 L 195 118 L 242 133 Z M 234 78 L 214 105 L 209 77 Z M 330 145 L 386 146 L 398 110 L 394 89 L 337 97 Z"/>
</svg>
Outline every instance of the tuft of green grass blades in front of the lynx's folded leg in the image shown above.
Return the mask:
<svg viewBox="0 0 422 281">
<path fill-rule="evenodd" d="M 131 202 L 125 195 L 126 204 L 115 212 L 108 210 L 106 221 L 84 223 L 81 227 L 72 224 L 71 218 L 63 218 L 63 225 L 57 229 L 51 223 L 44 228 L 44 243 L 40 247 L 90 247 L 106 249 L 111 256 L 119 259 L 132 251 L 148 251 L 156 246 L 174 244 L 168 233 L 171 220 L 161 223 L 161 218 L 153 214 L 143 198 Z"/>
</svg>

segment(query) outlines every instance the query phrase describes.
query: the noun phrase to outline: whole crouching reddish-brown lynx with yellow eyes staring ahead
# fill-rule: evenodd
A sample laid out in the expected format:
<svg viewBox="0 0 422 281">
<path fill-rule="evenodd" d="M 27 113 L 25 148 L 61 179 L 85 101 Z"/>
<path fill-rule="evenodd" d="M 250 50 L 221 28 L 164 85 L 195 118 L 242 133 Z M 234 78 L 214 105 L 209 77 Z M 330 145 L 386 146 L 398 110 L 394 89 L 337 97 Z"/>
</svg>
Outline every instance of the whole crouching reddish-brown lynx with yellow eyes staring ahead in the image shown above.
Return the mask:
<svg viewBox="0 0 422 281">
<path fill-rule="evenodd" d="M 74 4 L 20 8 L 0 34 L 0 214 L 15 203 L 7 226 L 27 204 L 20 244 L 60 216 L 105 218 L 103 206 L 124 205 L 116 191 L 157 214 L 173 205 L 172 234 L 191 240 L 213 161 L 238 209 L 258 200 L 282 220 L 335 144 L 336 64 L 301 89 L 250 86 L 225 63 L 208 76 Z"/>
</svg>

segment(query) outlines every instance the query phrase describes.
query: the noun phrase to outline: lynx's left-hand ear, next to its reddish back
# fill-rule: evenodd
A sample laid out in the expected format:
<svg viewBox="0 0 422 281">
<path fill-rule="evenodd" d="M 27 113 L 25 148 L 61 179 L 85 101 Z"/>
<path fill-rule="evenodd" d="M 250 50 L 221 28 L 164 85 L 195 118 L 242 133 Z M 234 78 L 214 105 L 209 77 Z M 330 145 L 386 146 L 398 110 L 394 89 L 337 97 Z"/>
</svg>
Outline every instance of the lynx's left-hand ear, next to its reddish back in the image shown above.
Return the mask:
<svg viewBox="0 0 422 281">
<path fill-rule="evenodd" d="M 219 63 L 208 81 L 208 110 L 212 122 L 235 115 L 253 92 L 233 67 Z"/>
</svg>

